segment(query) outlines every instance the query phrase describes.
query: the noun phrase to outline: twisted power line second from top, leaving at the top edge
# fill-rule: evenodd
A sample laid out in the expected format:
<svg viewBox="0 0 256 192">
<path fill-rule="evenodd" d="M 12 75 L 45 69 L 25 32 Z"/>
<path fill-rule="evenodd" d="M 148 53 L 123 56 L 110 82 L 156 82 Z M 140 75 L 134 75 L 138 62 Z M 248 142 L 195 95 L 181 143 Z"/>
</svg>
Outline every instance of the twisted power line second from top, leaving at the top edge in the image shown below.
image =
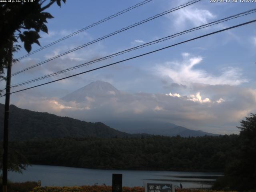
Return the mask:
<svg viewBox="0 0 256 192">
<path fill-rule="evenodd" d="M 90 44 L 96 43 L 96 42 L 98 42 L 98 41 L 100 41 L 100 40 L 103 40 L 103 39 L 105 39 L 105 38 L 108 38 L 108 37 L 110 37 L 110 36 L 113 36 L 113 35 L 115 35 L 115 34 L 118 34 L 118 33 L 120 33 L 120 32 L 123 32 L 123 31 L 125 31 L 125 30 L 128 30 L 128 29 L 133 28 L 133 27 L 135 27 L 135 26 L 141 25 L 141 24 L 143 24 L 143 23 L 145 23 L 145 22 L 148 22 L 148 21 L 150 21 L 150 20 L 156 19 L 156 18 L 158 18 L 158 17 L 160 17 L 160 16 L 163 16 L 163 15 L 168 14 L 168 13 L 170 13 L 170 12 L 173 12 L 173 11 L 176 11 L 176 10 L 178 10 L 178 9 L 184 8 L 184 7 L 186 7 L 186 6 L 189 6 L 189 5 L 194 4 L 194 3 L 196 3 L 196 2 L 199 2 L 199 1 L 201 1 L 201 0 L 193 0 L 193 1 L 187 2 L 187 3 L 185 3 L 185 4 L 182 4 L 182 5 L 178 6 L 178 7 L 175 7 L 175 8 L 172 8 L 172 9 L 170 9 L 170 10 L 164 11 L 164 12 L 162 12 L 162 13 L 160 13 L 160 14 L 156 14 L 155 16 L 152 16 L 152 17 L 150 17 L 150 18 L 147 18 L 147 19 L 145 19 L 145 20 L 142 20 L 142 21 L 140 21 L 140 22 L 137 22 L 137 23 L 135 23 L 135 24 L 132 24 L 132 25 L 130 25 L 130 26 L 128 26 L 128 27 L 125 27 L 125 28 L 122 28 L 122 29 L 117 30 L 117 31 L 115 31 L 115 32 L 112 32 L 112 33 L 110 33 L 110 34 L 108 34 L 108 35 L 105 35 L 105 36 L 103 36 L 103 37 L 100 37 L 100 38 L 98 38 L 98 39 L 96 39 L 96 40 L 93 40 L 93 41 L 91 41 L 91 42 L 88 42 L 88 43 L 86 43 L 86 44 L 83 44 L 83 45 L 81 45 L 81 46 L 78 46 L 78 47 L 76 47 L 76 48 L 74 48 L 74 49 L 72 49 L 72 50 L 68 50 L 67 52 L 64 52 L 64 53 L 62 53 L 62 54 L 59 54 L 59 55 L 54 56 L 54 57 L 52 57 L 52 58 L 49 58 L 49 59 L 47 59 L 47 60 L 45 60 L 45 61 L 43 61 L 43 62 L 40 62 L 40 63 L 38 63 L 38 64 L 35 64 L 35 65 L 33 65 L 33 66 L 30 66 L 30 67 L 28 67 L 28 68 L 25 68 L 25 69 L 23 69 L 23 70 L 20 70 L 20 71 L 18 71 L 18 72 L 16 72 L 16 73 L 12 74 L 12 76 L 17 75 L 17 74 L 19 74 L 19 73 L 21 73 L 21 72 L 24 72 L 24 71 L 26 71 L 26 70 L 32 69 L 32 68 L 34 68 L 34 67 L 36 67 L 36 66 L 40 66 L 40 65 L 42 65 L 42 64 L 44 64 L 44 63 L 46 63 L 46 62 L 49 62 L 49 61 L 51 61 L 51 60 L 54 60 L 54 59 L 56 59 L 56 58 L 58 58 L 58 57 L 60 57 L 60 56 L 63 56 L 63 55 L 66 55 L 66 54 L 68 54 L 68 53 L 71 53 L 71 52 L 73 52 L 73 51 L 79 50 L 79 49 L 81 49 L 81 48 L 84 48 L 85 46 L 88 46 L 88 45 L 90 45 Z"/>
</svg>

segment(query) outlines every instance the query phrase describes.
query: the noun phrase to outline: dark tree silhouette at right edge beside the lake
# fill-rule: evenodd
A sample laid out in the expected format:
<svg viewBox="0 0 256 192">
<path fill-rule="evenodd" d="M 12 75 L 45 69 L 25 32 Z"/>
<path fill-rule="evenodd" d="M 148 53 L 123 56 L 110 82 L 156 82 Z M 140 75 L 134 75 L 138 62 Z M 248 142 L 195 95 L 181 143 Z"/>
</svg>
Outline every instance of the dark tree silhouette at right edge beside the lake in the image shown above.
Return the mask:
<svg viewBox="0 0 256 192">
<path fill-rule="evenodd" d="M 231 161 L 226 164 L 225 176 L 216 182 L 216 189 L 256 189 L 256 114 L 251 114 L 240 123 L 236 141 L 238 149 L 233 150 Z"/>
</svg>

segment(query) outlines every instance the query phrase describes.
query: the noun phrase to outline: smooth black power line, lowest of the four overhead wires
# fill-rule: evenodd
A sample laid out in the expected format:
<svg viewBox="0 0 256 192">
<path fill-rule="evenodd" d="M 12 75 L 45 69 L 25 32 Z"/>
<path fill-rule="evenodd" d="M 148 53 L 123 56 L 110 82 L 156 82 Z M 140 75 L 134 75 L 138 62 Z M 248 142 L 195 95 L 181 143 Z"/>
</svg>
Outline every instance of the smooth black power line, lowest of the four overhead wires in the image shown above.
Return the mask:
<svg viewBox="0 0 256 192">
<path fill-rule="evenodd" d="M 121 61 L 118 61 L 118 62 L 114 62 L 114 63 L 108 64 L 108 65 L 104 65 L 104 66 L 101 66 L 101 67 L 98 67 L 98 68 L 94 68 L 92 70 L 84 71 L 84 72 L 81 72 L 81 73 L 78 73 L 78 74 L 74 74 L 74 75 L 71 75 L 71 76 L 67 76 L 67 77 L 64 77 L 64 78 L 60 78 L 60 79 L 57 79 L 57 80 L 54 80 L 54 81 L 50 81 L 50 82 L 46 82 L 46 83 L 39 84 L 39 85 L 36 85 L 36 86 L 32 86 L 32 87 L 29 87 L 29 88 L 25 88 L 25 89 L 22 89 L 22 90 L 14 91 L 14 92 L 11 92 L 10 94 L 21 92 L 21 91 L 28 90 L 28 89 L 32 89 L 32 88 L 39 87 L 39 86 L 42 86 L 42 85 L 50 84 L 50 83 L 53 83 L 53 82 L 56 82 L 56 81 L 64 80 L 64 79 L 71 78 L 71 77 L 74 77 L 74 76 L 78 76 L 80 74 L 92 72 L 94 70 L 98 70 L 98 69 L 105 68 L 105 67 L 108 67 L 108 66 L 112 66 L 114 64 L 118 64 L 118 63 L 121 63 L 121 62 L 124 62 L 124 61 L 128 61 L 128 60 L 131 60 L 131 59 L 134 59 L 134 58 L 145 56 L 145 55 L 148 55 L 148 54 L 151 54 L 151 53 L 154 53 L 154 52 L 158 52 L 160 50 L 164 50 L 166 48 L 170 48 L 170 47 L 173 47 L 173 46 L 176 46 L 176 45 L 179 45 L 179 44 L 190 42 L 192 40 L 196 40 L 196 39 L 199 39 L 199 38 L 210 36 L 210 35 L 213 35 L 213 34 L 216 34 L 216 33 L 222 32 L 222 31 L 230 30 L 232 28 L 240 27 L 240 26 L 243 26 L 243 25 L 246 25 L 246 24 L 250 24 L 252 22 L 256 22 L 256 20 L 251 20 L 249 22 L 245 22 L 245 23 L 242 23 L 242 24 L 238 24 L 238 25 L 235 25 L 235 26 L 232 26 L 232 27 L 228 27 L 228 28 L 222 29 L 222 30 L 211 32 L 211 33 L 208 33 L 208 34 L 205 34 L 205 35 L 202 35 L 202 36 L 198 36 L 196 38 L 192 38 L 192 39 L 189 39 L 189 40 L 186 40 L 186 41 L 182 41 L 182 42 L 179 42 L 179 43 L 176 43 L 176 44 L 172 44 L 172 45 L 164 47 L 164 48 L 160 48 L 160 49 L 157 49 L 157 50 L 154 50 L 154 51 L 151 51 L 151 52 L 147 52 L 147 53 L 144 53 L 144 54 L 141 54 L 141 55 L 137 55 L 137 56 L 134 56 L 134 57 L 131 57 L 131 58 L 128 58 L 128 59 L 124 59 L 124 60 L 121 60 Z M 3 96 L 5 96 L 5 95 L 3 95 Z M 1 97 L 3 97 L 3 96 L 1 96 Z"/>
</svg>

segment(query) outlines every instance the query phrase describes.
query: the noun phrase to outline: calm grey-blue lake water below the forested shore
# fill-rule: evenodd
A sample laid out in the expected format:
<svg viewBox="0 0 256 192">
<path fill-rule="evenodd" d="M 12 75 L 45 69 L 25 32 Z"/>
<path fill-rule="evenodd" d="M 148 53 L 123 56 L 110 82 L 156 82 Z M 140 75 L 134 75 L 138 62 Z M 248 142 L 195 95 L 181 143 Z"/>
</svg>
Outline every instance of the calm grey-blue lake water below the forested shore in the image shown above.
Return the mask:
<svg viewBox="0 0 256 192">
<path fill-rule="evenodd" d="M 112 185 L 112 174 L 123 174 L 123 186 L 143 186 L 144 182 L 180 184 L 183 188 L 208 188 L 222 174 L 205 172 L 97 170 L 62 166 L 32 165 L 23 174 L 8 172 L 13 182 L 42 181 L 42 186 Z"/>
</svg>

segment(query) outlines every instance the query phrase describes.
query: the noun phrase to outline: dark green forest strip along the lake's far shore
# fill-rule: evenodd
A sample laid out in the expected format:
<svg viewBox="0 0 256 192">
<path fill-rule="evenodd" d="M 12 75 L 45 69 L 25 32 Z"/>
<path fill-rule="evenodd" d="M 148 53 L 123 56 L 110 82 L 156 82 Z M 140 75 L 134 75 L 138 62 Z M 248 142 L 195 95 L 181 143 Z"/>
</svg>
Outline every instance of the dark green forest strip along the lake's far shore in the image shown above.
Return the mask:
<svg viewBox="0 0 256 192">
<path fill-rule="evenodd" d="M 222 172 L 237 135 L 182 138 L 61 138 L 11 142 L 31 164 L 98 169 Z"/>
</svg>

